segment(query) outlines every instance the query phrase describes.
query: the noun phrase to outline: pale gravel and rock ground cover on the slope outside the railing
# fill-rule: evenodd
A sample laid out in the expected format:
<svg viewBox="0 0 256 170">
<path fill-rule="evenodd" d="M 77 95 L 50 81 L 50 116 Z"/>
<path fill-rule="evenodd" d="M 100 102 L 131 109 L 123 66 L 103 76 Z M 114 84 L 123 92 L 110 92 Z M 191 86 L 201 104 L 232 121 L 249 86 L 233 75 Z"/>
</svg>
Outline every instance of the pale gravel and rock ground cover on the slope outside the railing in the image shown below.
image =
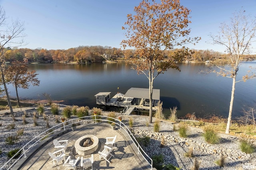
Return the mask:
<svg viewBox="0 0 256 170">
<path fill-rule="evenodd" d="M 64 105 L 60 105 L 60 112 L 64 108 Z M 42 116 L 38 117 L 38 126 L 34 126 L 33 112 L 35 108 L 26 110 L 28 117 L 26 121 L 28 124 L 22 124 L 22 115 L 24 111 L 15 110 L 15 117 L 18 121 L 15 122 L 14 129 L 7 129 L 8 125 L 12 124 L 12 118 L 5 111 L 0 111 L 0 167 L 8 161 L 7 153 L 10 150 L 21 148 L 28 141 L 33 139 L 36 135 L 47 130 L 46 121 L 43 120 Z M 50 107 L 45 107 L 45 113 L 49 119 L 50 127 L 56 125 L 55 115 L 50 113 Z M 103 111 L 103 115 L 108 112 Z M 120 114 L 120 113 L 117 113 Z M 174 166 L 180 167 L 184 170 L 192 168 L 195 158 L 200 162 L 200 169 L 202 170 L 215 170 L 215 169 L 255 169 L 256 168 L 256 154 L 244 154 L 240 152 L 238 138 L 226 134 L 220 134 L 221 142 L 216 145 L 210 145 L 206 143 L 202 137 L 202 129 L 189 127 L 188 137 L 181 138 L 177 131 L 173 131 L 173 124 L 168 121 L 160 122 L 160 132 L 153 132 L 153 123 L 148 126 L 148 117 L 138 115 L 121 115 L 123 117 L 122 122 L 128 126 L 128 119 L 133 118 L 134 134 L 137 137 L 143 137 L 143 135 L 150 136 L 150 144 L 147 147 L 143 147 L 145 152 L 152 157 L 153 155 L 164 155 L 164 164 L 173 164 Z M 61 117 L 61 115 L 59 116 Z M 74 117 L 73 117 L 74 118 Z M 154 121 L 154 117 L 153 117 Z M 24 129 L 23 135 L 18 136 L 17 131 Z M 6 138 L 9 136 L 18 137 L 14 145 L 6 144 Z M 160 141 L 164 138 L 165 145 L 160 147 Z M 188 152 L 189 148 L 193 147 L 194 157 L 189 158 L 184 156 Z M 220 158 L 220 154 L 226 156 L 226 167 L 219 167 L 215 164 L 216 160 Z M 12 162 L 10 162 L 12 164 Z"/>
</svg>

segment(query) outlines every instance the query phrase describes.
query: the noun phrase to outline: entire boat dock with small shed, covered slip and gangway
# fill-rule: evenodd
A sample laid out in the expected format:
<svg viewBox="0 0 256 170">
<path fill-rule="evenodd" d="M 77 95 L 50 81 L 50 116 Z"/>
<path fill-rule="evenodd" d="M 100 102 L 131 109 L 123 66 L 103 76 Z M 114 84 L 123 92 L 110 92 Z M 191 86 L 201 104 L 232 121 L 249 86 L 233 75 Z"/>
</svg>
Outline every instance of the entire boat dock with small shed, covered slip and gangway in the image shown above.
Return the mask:
<svg viewBox="0 0 256 170">
<path fill-rule="evenodd" d="M 100 92 L 96 94 L 96 104 L 105 106 L 125 107 L 121 113 L 130 115 L 134 110 L 149 110 L 149 92 L 147 88 L 130 88 L 126 94 L 117 93 L 110 98 L 111 92 Z M 160 90 L 153 89 L 152 110 L 160 101 Z"/>
</svg>

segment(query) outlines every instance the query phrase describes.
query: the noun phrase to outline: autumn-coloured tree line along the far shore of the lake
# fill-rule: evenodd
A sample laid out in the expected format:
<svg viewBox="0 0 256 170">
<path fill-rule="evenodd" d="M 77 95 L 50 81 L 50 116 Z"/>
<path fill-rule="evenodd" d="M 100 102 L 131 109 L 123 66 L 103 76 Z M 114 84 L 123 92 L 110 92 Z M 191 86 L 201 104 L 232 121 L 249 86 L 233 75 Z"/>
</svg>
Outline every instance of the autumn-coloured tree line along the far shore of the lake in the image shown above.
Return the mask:
<svg viewBox="0 0 256 170">
<path fill-rule="evenodd" d="M 164 51 L 165 59 L 174 56 L 176 52 L 182 49 L 172 49 Z M 6 48 L 5 55 L 7 62 L 23 61 L 24 58 L 28 62 L 39 63 L 87 63 L 87 62 L 102 62 L 104 60 L 112 60 L 116 57 L 129 58 L 136 53 L 133 49 L 121 50 L 115 47 L 108 46 L 79 46 L 67 50 L 47 50 L 47 49 L 28 49 L 28 48 Z M 244 60 L 256 59 L 256 55 L 244 55 Z M 181 61 L 226 61 L 228 54 L 216 52 L 213 50 L 195 50 L 189 51 L 188 55 L 183 57 Z"/>
</svg>

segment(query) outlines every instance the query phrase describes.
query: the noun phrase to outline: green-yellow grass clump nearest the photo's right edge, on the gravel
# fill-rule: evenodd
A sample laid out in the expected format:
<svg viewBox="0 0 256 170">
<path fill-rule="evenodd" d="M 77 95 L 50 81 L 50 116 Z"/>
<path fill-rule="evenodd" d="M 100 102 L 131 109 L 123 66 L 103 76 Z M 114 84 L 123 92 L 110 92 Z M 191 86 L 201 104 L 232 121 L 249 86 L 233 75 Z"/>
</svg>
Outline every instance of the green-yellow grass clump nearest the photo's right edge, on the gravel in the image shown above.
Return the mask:
<svg viewBox="0 0 256 170">
<path fill-rule="evenodd" d="M 240 142 L 240 149 L 242 152 L 245 152 L 247 154 L 248 153 L 251 154 L 252 152 L 254 152 L 255 139 L 253 139 L 252 137 L 247 137 L 246 135 L 242 134 L 240 135 L 239 142 Z"/>
</svg>

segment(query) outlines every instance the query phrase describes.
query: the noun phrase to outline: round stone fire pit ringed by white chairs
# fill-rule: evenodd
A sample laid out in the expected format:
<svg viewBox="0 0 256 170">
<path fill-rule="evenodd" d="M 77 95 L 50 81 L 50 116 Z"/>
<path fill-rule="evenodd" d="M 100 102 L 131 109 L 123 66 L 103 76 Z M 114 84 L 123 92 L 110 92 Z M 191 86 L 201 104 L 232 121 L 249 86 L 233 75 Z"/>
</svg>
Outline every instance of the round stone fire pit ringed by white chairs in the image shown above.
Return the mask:
<svg viewBox="0 0 256 170">
<path fill-rule="evenodd" d="M 92 154 L 98 149 L 99 139 L 94 135 L 85 135 L 76 140 L 75 149 L 79 155 Z"/>
</svg>

